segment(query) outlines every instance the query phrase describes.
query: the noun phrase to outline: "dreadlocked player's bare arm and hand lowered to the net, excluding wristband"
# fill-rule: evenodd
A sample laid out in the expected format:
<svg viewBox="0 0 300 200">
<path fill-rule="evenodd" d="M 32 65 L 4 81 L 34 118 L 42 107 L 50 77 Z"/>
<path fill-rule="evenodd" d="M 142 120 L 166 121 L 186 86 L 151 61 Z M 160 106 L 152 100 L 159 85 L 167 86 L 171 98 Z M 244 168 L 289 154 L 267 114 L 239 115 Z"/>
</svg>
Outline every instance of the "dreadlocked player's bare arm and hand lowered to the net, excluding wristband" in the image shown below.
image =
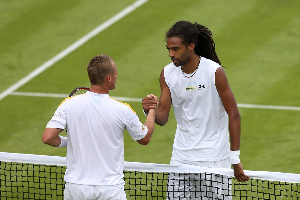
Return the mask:
<svg viewBox="0 0 300 200">
<path fill-rule="evenodd" d="M 230 89 L 225 71 L 220 67 L 216 71 L 215 84 L 224 105 L 224 108 L 229 117 L 229 133 L 231 150 L 236 151 L 240 148 L 241 138 L 241 115 L 237 108 L 237 102 Z M 249 179 L 249 176 L 244 174 L 242 163 L 232 165 L 234 175 L 238 181 L 244 182 Z"/>
</svg>

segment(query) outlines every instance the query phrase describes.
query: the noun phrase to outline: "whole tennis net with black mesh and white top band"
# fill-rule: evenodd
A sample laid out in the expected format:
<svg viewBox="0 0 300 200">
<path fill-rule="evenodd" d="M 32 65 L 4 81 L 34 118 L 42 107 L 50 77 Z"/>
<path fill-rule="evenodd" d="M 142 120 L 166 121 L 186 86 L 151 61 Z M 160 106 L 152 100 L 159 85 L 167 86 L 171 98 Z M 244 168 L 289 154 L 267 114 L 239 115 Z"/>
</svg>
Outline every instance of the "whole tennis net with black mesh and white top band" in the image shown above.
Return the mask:
<svg viewBox="0 0 300 200">
<path fill-rule="evenodd" d="M 66 157 L 0 152 L 2 199 L 63 199 Z M 300 174 L 125 162 L 127 199 L 300 199 Z"/>
</svg>

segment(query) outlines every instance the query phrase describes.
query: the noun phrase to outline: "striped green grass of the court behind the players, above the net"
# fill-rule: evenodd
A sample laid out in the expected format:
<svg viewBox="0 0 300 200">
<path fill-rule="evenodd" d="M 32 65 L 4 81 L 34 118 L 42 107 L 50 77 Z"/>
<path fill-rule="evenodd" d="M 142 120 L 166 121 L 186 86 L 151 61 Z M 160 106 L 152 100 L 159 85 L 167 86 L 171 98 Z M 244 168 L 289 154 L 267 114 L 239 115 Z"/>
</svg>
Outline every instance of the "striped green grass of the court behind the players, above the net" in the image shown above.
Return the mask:
<svg viewBox="0 0 300 200">
<path fill-rule="evenodd" d="M 133 2 L 1 1 L 0 92 Z M 178 20 L 190 20 L 212 31 L 237 103 L 300 107 L 299 6 L 296 0 L 149 0 L 16 91 L 68 94 L 89 86 L 88 61 L 105 53 L 119 73 L 111 96 L 159 96 L 159 74 L 171 62 L 165 32 Z M 8 95 L 0 100 L 0 151 L 65 156 L 65 149 L 41 139 L 63 99 Z M 141 102 L 126 103 L 145 120 Z M 239 111 L 244 169 L 300 173 L 300 111 Z M 176 129 L 172 112 L 165 126 L 156 125 L 148 146 L 125 133 L 126 161 L 169 163 Z"/>
</svg>

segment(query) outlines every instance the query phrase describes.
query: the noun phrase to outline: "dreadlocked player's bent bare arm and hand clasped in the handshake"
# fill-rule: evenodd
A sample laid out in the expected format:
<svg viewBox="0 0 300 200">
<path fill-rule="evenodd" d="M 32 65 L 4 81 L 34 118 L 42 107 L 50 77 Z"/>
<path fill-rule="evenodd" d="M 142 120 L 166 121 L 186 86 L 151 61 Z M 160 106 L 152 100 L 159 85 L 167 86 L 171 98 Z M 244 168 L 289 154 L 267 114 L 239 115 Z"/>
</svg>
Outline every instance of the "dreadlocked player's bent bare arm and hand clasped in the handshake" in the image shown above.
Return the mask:
<svg viewBox="0 0 300 200">
<path fill-rule="evenodd" d="M 163 126 L 168 122 L 169 113 L 172 105 L 171 92 L 165 81 L 164 69 L 160 74 L 159 83 L 161 88 L 161 94 L 160 94 L 158 109 L 156 110 L 155 123 Z M 143 99 L 143 109 L 146 114 L 148 113 L 149 107 L 154 105 L 155 105 L 154 98 L 151 99 L 151 97 L 150 98 L 146 97 Z"/>
</svg>

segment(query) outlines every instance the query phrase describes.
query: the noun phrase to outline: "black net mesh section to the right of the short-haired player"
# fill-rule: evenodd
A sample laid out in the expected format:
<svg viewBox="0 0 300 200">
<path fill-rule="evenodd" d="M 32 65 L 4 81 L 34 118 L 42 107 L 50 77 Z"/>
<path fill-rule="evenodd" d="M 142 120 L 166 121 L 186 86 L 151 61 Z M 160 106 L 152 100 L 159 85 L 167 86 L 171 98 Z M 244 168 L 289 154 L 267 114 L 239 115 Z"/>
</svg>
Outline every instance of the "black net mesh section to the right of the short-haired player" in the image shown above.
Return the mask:
<svg viewBox="0 0 300 200">
<path fill-rule="evenodd" d="M 212 173 L 124 171 L 128 199 L 300 199 L 300 183 L 235 178 Z"/>
</svg>

